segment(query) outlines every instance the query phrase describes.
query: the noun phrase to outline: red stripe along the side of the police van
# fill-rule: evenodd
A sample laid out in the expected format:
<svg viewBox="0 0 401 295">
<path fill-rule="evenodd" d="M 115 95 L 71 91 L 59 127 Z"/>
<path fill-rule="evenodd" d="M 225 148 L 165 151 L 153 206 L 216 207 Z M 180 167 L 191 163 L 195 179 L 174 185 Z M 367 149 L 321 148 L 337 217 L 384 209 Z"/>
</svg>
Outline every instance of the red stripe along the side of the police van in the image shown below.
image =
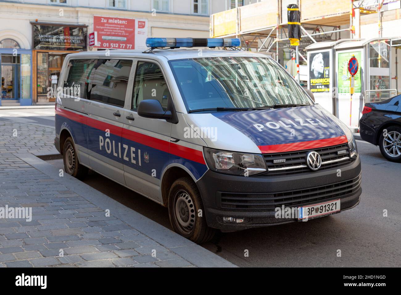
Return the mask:
<svg viewBox="0 0 401 295">
<path fill-rule="evenodd" d="M 166 140 L 162 140 L 156 137 L 148 136 L 146 134 L 138 133 L 126 128 L 121 128 L 118 126 L 114 126 L 105 122 L 101 122 L 99 120 L 95 120 L 93 118 L 89 118 L 75 112 L 71 112 L 69 110 L 65 110 L 63 108 L 56 107 L 56 114 L 68 118 L 70 120 L 77 121 L 82 124 L 87 124 L 93 128 L 99 130 L 109 129 L 111 134 L 115 134 L 117 136 L 122 136 L 128 140 L 132 140 L 134 142 L 138 142 L 140 144 L 144 144 L 146 146 L 150 146 L 154 149 L 158 149 L 159 151 L 163 151 L 166 153 L 171 153 L 178 157 L 188 159 L 190 161 L 194 161 L 201 164 L 206 164 L 203 159 L 203 152 L 195 149 L 188 148 L 186 146 L 182 146 L 176 143 L 168 142 Z M 170 145 L 170 151 L 169 151 Z"/>
</svg>

